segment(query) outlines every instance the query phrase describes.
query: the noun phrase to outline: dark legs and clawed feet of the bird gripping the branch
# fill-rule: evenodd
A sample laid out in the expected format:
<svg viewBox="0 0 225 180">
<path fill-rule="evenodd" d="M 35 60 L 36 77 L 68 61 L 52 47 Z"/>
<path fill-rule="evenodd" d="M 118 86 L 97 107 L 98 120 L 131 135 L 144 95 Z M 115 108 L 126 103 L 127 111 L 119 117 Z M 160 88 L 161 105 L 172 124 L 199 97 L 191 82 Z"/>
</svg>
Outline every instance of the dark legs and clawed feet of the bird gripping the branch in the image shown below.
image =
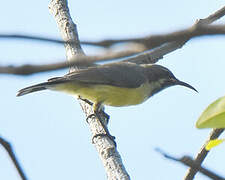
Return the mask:
<svg viewBox="0 0 225 180">
<path fill-rule="evenodd" d="M 91 117 L 93 117 L 93 116 L 97 117 L 98 121 L 100 122 L 102 128 L 103 128 L 104 131 L 105 131 L 105 133 L 94 135 L 93 138 L 92 138 L 92 143 L 94 143 L 94 138 L 96 138 L 96 137 L 98 137 L 98 136 L 107 136 L 109 139 L 111 139 L 111 140 L 113 141 L 113 143 L 114 143 L 115 146 L 116 146 L 116 142 L 114 141 L 114 140 L 115 140 L 115 137 L 112 136 L 112 135 L 109 133 L 109 130 L 108 130 L 108 128 L 105 126 L 105 124 L 104 124 L 104 122 L 103 122 L 103 120 L 102 120 L 102 117 L 101 117 L 101 114 L 102 114 L 102 115 L 106 118 L 106 121 L 108 122 L 108 120 L 109 120 L 109 115 L 106 114 L 103 110 L 100 110 L 100 105 L 101 105 L 100 103 L 94 104 L 94 107 L 93 107 L 93 108 L 94 108 L 94 114 L 90 114 L 90 115 L 87 117 L 87 119 L 86 119 L 86 121 L 88 122 L 88 119 L 89 119 L 89 118 L 91 118 Z"/>
</svg>

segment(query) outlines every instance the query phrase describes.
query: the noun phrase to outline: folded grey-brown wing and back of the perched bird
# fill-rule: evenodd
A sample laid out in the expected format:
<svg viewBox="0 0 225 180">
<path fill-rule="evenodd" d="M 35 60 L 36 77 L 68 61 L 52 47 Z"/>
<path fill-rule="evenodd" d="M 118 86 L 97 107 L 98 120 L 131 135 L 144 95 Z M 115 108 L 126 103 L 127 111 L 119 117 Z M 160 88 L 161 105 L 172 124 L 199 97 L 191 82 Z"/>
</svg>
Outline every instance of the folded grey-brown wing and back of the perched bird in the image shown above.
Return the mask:
<svg viewBox="0 0 225 180">
<path fill-rule="evenodd" d="M 78 70 L 49 82 L 80 82 L 87 85 L 101 84 L 125 88 L 137 88 L 146 81 L 143 68 L 131 63 L 113 63 Z"/>
</svg>

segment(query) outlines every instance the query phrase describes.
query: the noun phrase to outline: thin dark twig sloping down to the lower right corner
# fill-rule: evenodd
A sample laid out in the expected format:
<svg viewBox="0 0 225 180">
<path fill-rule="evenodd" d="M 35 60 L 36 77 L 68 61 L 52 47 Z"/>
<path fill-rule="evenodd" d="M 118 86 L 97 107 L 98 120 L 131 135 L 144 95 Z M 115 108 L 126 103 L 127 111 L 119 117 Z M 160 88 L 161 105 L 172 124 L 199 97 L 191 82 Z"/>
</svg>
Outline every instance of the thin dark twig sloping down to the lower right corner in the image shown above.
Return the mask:
<svg viewBox="0 0 225 180">
<path fill-rule="evenodd" d="M 191 157 L 189 156 L 183 156 L 181 158 L 177 158 L 174 156 L 171 156 L 167 153 L 165 153 L 164 151 L 162 151 L 159 148 L 155 149 L 157 152 L 159 152 L 161 155 L 163 155 L 165 158 L 176 161 L 176 162 L 180 162 L 188 167 L 191 167 L 193 169 L 196 169 L 197 171 L 201 172 L 202 174 L 208 176 L 209 178 L 212 178 L 214 180 L 225 180 L 225 178 L 223 178 L 222 176 L 212 172 L 209 169 L 206 169 L 205 167 L 202 167 L 200 165 L 198 165 Z"/>
</svg>

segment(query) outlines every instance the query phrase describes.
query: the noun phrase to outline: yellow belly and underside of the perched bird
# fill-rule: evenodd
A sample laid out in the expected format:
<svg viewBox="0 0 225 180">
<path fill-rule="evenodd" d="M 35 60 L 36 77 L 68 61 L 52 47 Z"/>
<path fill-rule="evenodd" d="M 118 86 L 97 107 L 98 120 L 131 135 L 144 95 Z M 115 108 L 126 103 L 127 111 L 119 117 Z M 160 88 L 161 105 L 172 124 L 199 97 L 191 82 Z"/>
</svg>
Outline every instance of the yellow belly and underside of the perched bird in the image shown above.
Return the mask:
<svg viewBox="0 0 225 180">
<path fill-rule="evenodd" d="M 148 99 L 151 91 L 150 85 L 145 83 L 138 88 L 120 88 L 109 85 L 82 85 L 64 84 L 55 90 L 64 91 L 72 95 L 79 95 L 93 103 L 102 103 L 109 106 L 136 105 Z"/>
</svg>

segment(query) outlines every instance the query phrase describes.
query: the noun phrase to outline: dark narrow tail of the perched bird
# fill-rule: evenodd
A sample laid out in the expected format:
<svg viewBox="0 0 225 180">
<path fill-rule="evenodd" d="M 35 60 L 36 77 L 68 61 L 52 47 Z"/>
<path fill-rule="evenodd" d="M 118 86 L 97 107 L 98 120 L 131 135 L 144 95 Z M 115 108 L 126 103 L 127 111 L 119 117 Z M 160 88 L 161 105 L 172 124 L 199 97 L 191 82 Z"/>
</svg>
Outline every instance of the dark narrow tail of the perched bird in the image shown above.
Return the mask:
<svg viewBox="0 0 225 180">
<path fill-rule="evenodd" d="M 23 88 L 23 89 L 19 90 L 19 92 L 16 96 L 23 96 L 23 95 L 26 95 L 26 94 L 29 94 L 32 92 L 45 90 L 45 89 L 47 89 L 48 85 L 49 85 L 49 82 L 45 82 L 45 83 L 40 83 L 40 84 L 36 84 L 33 86 Z"/>
</svg>

